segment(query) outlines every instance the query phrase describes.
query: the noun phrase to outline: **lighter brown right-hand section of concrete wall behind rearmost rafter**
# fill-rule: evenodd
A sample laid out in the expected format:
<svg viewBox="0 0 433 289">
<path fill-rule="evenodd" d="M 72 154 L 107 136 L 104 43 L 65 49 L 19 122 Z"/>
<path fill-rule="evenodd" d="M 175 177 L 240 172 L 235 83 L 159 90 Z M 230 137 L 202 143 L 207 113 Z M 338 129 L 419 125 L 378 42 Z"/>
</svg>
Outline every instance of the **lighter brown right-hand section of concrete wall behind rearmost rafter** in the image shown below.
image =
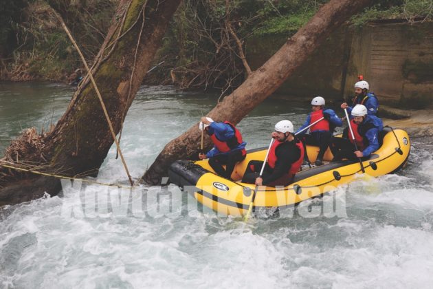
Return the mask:
<svg viewBox="0 0 433 289">
<path fill-rule="evenodd" d="M 384 103 L 417 107 L 433 100 L 433 23 L 372 23 L 356 32 L 344 92 L 363 74 Z"/>
</svg>

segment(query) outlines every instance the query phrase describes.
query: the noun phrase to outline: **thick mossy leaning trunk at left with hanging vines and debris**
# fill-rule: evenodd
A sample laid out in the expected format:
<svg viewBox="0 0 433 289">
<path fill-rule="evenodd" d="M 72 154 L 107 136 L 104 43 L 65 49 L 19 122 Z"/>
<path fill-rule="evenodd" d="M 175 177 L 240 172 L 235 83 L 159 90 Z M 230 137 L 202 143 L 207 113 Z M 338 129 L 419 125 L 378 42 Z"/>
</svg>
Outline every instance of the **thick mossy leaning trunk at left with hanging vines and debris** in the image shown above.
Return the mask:
<svg viewBox="0 0 433 289">
<path fill-rule="evenodd" d="M 113 25 L 91 69 L 115 133 L 122 127 L 126 111 L 180 2 L 120 1 Z M 113 144 L 88 76 L 53 131 L 39 137 L 30 135 L 27 131 L 23 138 L 15 140 L 6 149 L 3 160 L 17 165 L 37 164 L 38 171 L 69 177 L 96 175 Z M 32 200 L 45 192 L 56 195 L 58 191 L 60 181 L 56 178 L 0 167 L 0 206 Z"/>
</svg>

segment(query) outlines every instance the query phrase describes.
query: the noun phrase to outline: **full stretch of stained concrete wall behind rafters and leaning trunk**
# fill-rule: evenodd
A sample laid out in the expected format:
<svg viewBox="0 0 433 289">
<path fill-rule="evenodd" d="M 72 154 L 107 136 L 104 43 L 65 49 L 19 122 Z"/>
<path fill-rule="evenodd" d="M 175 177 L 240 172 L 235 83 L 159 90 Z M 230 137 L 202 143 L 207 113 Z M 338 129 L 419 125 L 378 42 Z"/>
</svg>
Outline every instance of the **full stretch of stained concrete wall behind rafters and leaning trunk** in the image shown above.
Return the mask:
<svg viewBox="0 0 433 289">
<path fill-rule="evenodd" d="M 260 67 L 285 36 L 251 39 L 247 59 Z M 340 101 L 353 95 L 359 74 L 383 104 L 433 105 L 433 23 L 370 23 L 362 30 L 341 28 L 289 78 L 278 92 L 322 95 Z"/>
</svg>

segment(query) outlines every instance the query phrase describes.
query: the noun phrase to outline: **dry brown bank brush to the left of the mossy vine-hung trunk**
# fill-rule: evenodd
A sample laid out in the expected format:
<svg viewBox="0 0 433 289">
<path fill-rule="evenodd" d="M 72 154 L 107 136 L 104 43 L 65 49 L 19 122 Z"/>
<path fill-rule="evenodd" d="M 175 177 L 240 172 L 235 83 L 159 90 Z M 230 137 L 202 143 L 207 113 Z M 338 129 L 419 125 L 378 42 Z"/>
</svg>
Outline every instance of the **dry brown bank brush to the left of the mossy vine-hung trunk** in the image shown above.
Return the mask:
<svg viewBox="0 0 433 289">
<path fill-rule="evenodd" d="M 4 0 L 0 8 L 0 79 L 69 82 L 82 66 L 53 7 L 71 29 L 85 57 L 95 58 L 118 0 Z"/>
</svg>

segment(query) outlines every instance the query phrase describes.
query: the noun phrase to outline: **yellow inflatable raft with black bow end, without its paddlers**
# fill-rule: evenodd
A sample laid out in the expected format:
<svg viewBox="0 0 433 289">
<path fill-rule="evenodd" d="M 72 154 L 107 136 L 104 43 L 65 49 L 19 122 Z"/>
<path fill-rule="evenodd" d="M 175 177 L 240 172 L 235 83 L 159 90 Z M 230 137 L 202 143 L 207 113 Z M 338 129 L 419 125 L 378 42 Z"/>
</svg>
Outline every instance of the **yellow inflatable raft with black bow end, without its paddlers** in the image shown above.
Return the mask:
<svg viewBox="0 0 433 289">
<path fill-rule="evenodd" d="M 341 135 L 340 135 L 341 137 Z M 366 174 L 373 177 L 394 173 L 405 166 L 410 153 L 408 133 L 402 129 L 384 127 L 379 133 L 381 146 L 368 158 L 362 158 Z M 247 151 L 247 156 L 238 162 L 232 173 L 232 180 L 242 180 L 250 160 L 264 160 L 267 147 Z M 309 160 L 313 163 L 319 148 L 307 146 Z M 324 161 L 332 159 L 331 151 L 326 151 Z M 312 197 L 321 196 L 337 186 L 348 184 L 362 173 L 359 160 L 329 162 L 320 167 L 302 169 L 296 173 L 288 186 L 260 187 L 254 200 L 256 210 L 269 207 L 284 208 L 293 206 Z M 222 178 L 212 170 L 208 160 L 192 162 L 178 160 L 171 164 L 168 176 L 172 184 L 191 193 L 198 202 L 223 214 L 239 217 L 245 215 L 252 200 L 254 184 Z"/>
</svg>

